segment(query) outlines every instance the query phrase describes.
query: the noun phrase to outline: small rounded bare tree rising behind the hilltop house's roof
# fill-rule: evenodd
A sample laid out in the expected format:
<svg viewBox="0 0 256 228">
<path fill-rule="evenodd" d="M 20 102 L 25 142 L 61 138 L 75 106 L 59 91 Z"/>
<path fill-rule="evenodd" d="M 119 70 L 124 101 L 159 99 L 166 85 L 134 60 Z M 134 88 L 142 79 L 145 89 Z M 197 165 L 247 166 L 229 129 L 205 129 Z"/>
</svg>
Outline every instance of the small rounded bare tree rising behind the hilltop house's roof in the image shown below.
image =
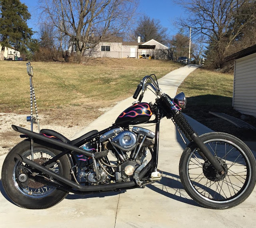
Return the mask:
<svg viewBox="0 0 256 228">
<path fill-rule="evenodd" d="M 134 35 L 136 38 L 140 36 L 142 42 L 154 39 L 160 43 L 166 43 L 167 28 L 161 25 L 160 20 L 150 19 L 149 16 L 144 15 L 140 17 Z"/>
</svg>

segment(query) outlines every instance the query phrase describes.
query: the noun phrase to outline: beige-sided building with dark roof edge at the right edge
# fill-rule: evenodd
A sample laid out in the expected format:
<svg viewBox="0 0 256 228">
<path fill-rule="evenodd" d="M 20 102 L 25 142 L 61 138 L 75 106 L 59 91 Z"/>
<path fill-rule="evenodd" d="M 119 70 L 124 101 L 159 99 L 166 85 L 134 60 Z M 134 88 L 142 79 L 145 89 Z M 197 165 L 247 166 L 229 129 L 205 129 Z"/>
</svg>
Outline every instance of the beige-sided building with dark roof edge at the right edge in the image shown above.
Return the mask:
<svg viewBox="0 0 256 228">
<path fill-rule="evenodd" d="M 225 58 L 235 61 L 233 107 L 256 117 L 256 45 Z"/>
</svg>

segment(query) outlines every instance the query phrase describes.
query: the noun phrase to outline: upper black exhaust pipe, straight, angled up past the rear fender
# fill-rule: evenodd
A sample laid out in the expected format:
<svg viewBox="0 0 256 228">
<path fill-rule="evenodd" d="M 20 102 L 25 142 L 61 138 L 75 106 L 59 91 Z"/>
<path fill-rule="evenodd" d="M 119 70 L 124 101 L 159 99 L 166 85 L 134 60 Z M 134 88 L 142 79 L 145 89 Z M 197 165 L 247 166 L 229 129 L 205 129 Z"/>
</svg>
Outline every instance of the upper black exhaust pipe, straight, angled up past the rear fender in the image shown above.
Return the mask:
<svg viewBox="0 0 256 228">
<path fill-rule="evenodd" d="M 65 148 L 65 149 L 68 149 L 70 151 L 75 151 L 77 153 L 82 153 L 84 155 L 86 155 L 87 157 L 92 157 L 92 152 L 90 151 L 85 151 L 83 149 L 80 149 L 79 147 L 75 147 L 75 146 L 72 146 L 68 143 L 63 143 L 62 141 L 59 141 L 59 140 L 56 140 L 56 139 L 51 139 L 51 138 L 48 138 L 42 134 L 39 134 L 39 133 L 35 133 L 33 131 L 29 131 L 25 128 L 22 128 L 22 127 L 18 127 L 16 125 L 12 125 L 12 128 L 14 129 L 14 131 L 18 131 L 20 133 L 23 133 L 25 135 L 28 135 L 29 137 L 33 137 L 35 139 L 40 139 L 44 142 L 47 142 L 47 143 L 51 143 L 53 145 L 56 145 L 56 146 L 59 146 L 59 147 L 62 147 L 62 148 Z"/>
</svg>

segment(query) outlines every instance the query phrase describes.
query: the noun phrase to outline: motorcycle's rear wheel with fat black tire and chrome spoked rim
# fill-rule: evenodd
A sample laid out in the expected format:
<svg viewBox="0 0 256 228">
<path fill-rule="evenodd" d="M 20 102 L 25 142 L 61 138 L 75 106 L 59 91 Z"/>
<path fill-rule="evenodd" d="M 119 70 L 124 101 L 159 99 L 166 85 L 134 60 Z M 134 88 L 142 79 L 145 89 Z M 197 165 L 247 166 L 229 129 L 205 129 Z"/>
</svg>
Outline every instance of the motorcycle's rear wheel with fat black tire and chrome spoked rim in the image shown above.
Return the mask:
<svg viewBox="0 0 256 228">
<path fill-rule="evenodd" d="M 60 152 L 56 149 L 50 149 L 34 143 L 34 159 L 37 159 L 38 163 L 45 162 Z M 21 162 L 14 158 L 16 153 L 31 159 L 30 140 L 26 139 L 18 143 L 6 156 L 2 167 L 2 184 L 4 190 L 15 204 L 22 208 L 45 209 L 58 204 L 66 197 L 68 192 L 58 190 L 54 186 L 47 186 L 40 182 L 35 182 L 32 179 L 29 179 L 28 185 L 24 186 L 25 184 L 22 184 L 19 180 L 18 172 Z M 62 156 L 59 161 L 51 170 L 71 179 L 71 165 L 68 156 Z"/>
</svg>

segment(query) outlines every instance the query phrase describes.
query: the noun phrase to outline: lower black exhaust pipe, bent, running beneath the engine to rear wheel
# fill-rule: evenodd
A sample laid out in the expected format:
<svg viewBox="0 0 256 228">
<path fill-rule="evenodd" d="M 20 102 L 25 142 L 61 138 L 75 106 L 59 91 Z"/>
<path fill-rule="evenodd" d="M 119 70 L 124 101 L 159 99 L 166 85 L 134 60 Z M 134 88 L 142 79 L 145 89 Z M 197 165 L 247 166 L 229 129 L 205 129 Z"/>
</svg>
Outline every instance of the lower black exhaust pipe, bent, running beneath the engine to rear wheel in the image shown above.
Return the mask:
<svg viewBox="0 0 256 228">
<path fill-rule="evenodd" d="M 35 168 L 41 172 L 44 172 L 45 174 L 47 174 L 49 176 L 52 176 L 53 178 L 59 180 L 60 182 L 66 184 L 66 185 L 68 185 L 72 188 L 76 188 L 77 190 L 80 190 L 81 192 L 116 190 L 119 188 L 128 188 L 128 187 L 132 187 L 132 186 L 136 185 L 136 182 L 134 180 L 132 180 L 132 181 L 128 181 L 128 182 L 120 182 L 120 183 L 113 183 L 113 184 L 99 184 L 99 185 L 84 186 L 84 185 L 77 184 L 76 182 L 69 180 L 66 177 L 63 177 L 63 176 L 57 174 L 56 172 L 50 171 L 49 169 L 46 169 L 44 166 L 38 165 L 34 161 L 27 159 L 21 155 L 16 154 L 14 157 L 16 159 L 18 159 L 19 161 L 24 162 L 24 163 L 32 166 L 33 168 Z"/>
</svg>

